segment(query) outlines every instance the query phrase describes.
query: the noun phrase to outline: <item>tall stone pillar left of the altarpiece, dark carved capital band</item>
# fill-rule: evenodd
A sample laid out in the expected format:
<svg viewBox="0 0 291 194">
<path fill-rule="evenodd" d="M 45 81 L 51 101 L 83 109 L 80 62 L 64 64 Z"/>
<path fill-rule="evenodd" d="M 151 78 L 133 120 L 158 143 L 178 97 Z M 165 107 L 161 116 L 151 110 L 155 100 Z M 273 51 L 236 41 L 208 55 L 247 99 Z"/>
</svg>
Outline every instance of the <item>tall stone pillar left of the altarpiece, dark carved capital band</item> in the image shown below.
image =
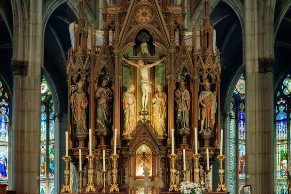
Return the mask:
<svg viewBox="0 0 291 194">
<path fill-rule="evenodd" d="M 13 1 L 12 190 L 38 194 L 42 0 Z"/>
</svg>

